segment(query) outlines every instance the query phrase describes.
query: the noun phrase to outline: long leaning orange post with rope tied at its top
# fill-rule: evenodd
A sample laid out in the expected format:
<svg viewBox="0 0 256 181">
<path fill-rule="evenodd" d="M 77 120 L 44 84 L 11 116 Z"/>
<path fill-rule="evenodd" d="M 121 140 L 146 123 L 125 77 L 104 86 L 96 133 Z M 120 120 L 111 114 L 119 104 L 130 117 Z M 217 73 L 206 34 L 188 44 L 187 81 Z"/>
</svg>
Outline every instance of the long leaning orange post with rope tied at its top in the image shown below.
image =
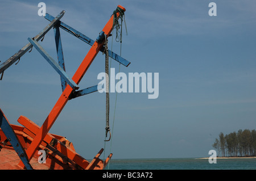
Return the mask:
<svg viewBox="0 0 256 181">
<path fill-rule="evenodd" d="M 118 5 L 119 8 L 121 8 L 123 11 L 125 11 L 125 8 Z M 117 12 L 117 18 L 120 17 L 119 12 Z M 110 35 L 110 33 L 113 30 L 113 20 L 114 15 L 111 16 L 108 23 L 106 23 L 105 27 L 102 31 L 106 34 L 106 37 Z M 72 79 L 73 81 L 78 85 L 81 81 L 82 77 L 88 70 L 90 64 L 92 64 L 92 61 L 97 56 L 97 53 L 102 48 L 104 42 L 98 43 L 94 42 L 92 47 L 90 48 L 89 52 L 86 54 L 84 60 L 81 62 L 79 68 L 76 70 L 76 73 L 73 75 Z M 38 133 L 36 134 L 34 140 L 31 142 L 30 147 L 27 149 L 26 153 L 28 156 L 28 160 L 30 160 L 33 155 L 35 154 L 36 150 L 38 149 L 41 142 L 44 140 L 44 137 L 46 137 L 47 133 L 49 132 L 49 129 L 51 129 L 53 123 L 59 116 L 60 112 L 63 110 L 65 104 L 67 104 L 69 95 L 73 92 L 73 89 L 71 86 L 67 85 L 63 93 L 61 94 L 59 100 L 57 100 L 55 106 L 52 108 L 51 112 L 49 113 L 47 119 L 44 121 L 42 127 L 39 129 Z M 19 162 L 20 166 L 24 166 L 23 163 Z"/>
</svg>

